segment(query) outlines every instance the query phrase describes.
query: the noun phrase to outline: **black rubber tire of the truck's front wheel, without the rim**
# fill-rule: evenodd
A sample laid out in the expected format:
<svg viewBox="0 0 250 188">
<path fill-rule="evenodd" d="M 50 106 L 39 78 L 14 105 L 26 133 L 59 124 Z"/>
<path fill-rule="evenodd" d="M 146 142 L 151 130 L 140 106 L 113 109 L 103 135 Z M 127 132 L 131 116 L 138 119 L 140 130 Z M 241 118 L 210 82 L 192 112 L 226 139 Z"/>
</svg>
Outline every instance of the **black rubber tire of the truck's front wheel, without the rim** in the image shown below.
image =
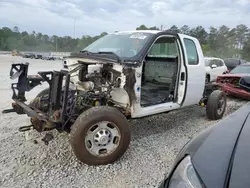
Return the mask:
<svg viewBox="0 0 250 188">
<path fill-rule="evenodd" d="M 85 138 L 91 127 L 103 121 L 116 125 L 120 133 L 119 144 L 112 153 L 106 156 L 95 156 L 88 151 Z M 74 154 L 78 160 L 88 165 L 105 165 L 115 162 L 129 147 L 130 139 L 130 127 L 126 117 L 117 109 L 109 106 L 92 107 L 86 110 L 71 127 L 70 142 Z"/>
</svg>

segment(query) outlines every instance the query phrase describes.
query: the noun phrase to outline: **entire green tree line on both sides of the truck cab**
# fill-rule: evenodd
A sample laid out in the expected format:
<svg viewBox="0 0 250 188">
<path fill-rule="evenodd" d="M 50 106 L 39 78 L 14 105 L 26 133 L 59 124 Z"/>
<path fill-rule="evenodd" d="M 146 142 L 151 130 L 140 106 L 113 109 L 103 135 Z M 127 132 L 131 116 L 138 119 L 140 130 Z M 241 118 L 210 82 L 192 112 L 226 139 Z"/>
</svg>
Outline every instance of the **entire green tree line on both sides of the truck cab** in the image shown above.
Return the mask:
<svg viewBox="0 0 250 188">
<path fill-rule="evenodd" d="M 136 28 L 136 30 L 148 29 L 160 30 L 158 27 L 145 25 Z M 167 31 L 198 38 L 205 56 L 240 57 L 250 60 L 250 28 L 246 25 L 237 25 L 235 28 L 222 25 L 218 28 L 210 27 L 208 30 L 202 26 L 190 28 L 188 25 L 184 25 L 179 28 L 173 25 Z M 13 29 L 3 27 L 0 29 L 0 50 L 76 52 L 106 34 L 103 32 L 92 37 L 84 35 L 81 38 L 72 38 L 70 36 L 48 36 L 35 31 L 32 33 L 20 32 L 18 27 Z"/>
</svg>

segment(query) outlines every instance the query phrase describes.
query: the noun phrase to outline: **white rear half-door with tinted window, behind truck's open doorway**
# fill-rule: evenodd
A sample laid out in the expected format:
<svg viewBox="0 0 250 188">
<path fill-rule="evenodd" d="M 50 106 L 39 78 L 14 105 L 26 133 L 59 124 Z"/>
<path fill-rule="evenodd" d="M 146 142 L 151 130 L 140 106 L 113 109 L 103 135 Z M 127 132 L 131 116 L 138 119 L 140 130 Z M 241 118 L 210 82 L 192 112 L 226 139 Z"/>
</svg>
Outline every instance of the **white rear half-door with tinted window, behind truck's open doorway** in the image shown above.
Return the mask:
<svg viewBox="0 0 250 188">
<path fill-rule="evenodd" d="M 182 106 L 198 104 L 205 89 L 206 69 L 199 41 L 191 36 L 179 34 L 186 66 L 186 89 Z"/>
</svg>

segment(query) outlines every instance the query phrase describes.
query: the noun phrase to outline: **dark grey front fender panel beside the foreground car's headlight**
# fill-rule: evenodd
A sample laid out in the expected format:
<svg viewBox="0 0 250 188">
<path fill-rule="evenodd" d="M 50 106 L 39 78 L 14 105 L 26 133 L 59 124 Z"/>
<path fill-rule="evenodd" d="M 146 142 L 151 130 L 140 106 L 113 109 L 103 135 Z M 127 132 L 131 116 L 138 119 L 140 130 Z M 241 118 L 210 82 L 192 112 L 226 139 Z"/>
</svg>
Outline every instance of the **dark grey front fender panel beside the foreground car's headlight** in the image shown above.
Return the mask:
<svg viewBox="0 0 250 188">
<path fill-rule="evenodd" d="M 186 155 L 191 155 L 194 168 L 206 187 L 224 187 L 231 156 L 249 112 L 250 103 L 204 130 L 183 147 L 175 165 Z"/>
</svg>

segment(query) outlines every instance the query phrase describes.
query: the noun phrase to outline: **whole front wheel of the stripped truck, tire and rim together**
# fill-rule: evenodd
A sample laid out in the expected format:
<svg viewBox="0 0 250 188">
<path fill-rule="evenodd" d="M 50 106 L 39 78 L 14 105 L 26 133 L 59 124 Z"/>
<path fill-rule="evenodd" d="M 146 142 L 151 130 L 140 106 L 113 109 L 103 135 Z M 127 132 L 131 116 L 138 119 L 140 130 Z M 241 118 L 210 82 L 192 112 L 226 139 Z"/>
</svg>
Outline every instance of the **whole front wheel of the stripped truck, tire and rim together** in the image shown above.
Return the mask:
<svg viewBox="0 0 250 188">
<path fill-rule="evenodd" d="M 72 149 L 77 159 L 88 165 L 113 163 L 127 150 L 130 139 L 127 119 L 108 106 L 90 108 L 71 127 Z"/>
</svg>

